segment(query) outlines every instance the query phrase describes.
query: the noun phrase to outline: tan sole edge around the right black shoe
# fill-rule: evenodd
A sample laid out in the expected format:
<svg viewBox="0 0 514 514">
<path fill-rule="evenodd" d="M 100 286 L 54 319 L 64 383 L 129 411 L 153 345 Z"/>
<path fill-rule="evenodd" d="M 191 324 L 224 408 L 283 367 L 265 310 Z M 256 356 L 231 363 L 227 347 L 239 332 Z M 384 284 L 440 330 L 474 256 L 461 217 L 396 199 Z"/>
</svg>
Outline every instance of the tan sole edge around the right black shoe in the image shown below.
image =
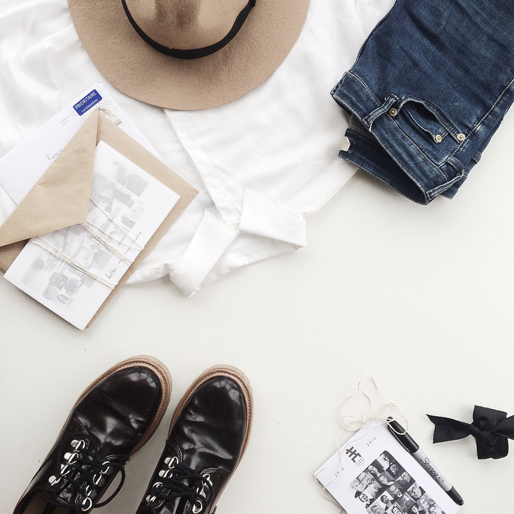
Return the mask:
<svg viewBox="0 0 514 514">
<path fill-rule="evenodd" d="M 236 464 L 236 467 L 234 468 L 234 471 L 231 473 L 231 476 L 229 476 L 229 479 L 223 486 L 222 490 L 220 490 L 220 493 L 218 494 L 217 499 L 219 500 L 222 492 L 225 490 L 225 487 L 227 487 L 230 479 L 232 476 L 234 476 L 234 473 L 236 472 L 236 469 L 238 468 L 239 464 L 241 463 L 241 460 L 243 459 L 243 455 L 245 454 L 246 448 L 248 446 L 248 441 L 250 440 L 250 433 L 252 431 L 252 420 L 253 420 L 253 394 L 252 394 L 252 386 L 250 385 L 250 381 L 245 376 L 243 371 L 240 369 L 234 367 L 234 366 L 212 366 L 201 375 L 197 376 L 193 383 L 190 385 L 190 387 L 185 392 L 184 396 L 180 399 L 178 402 L 178 405 L 175 409 L 175 413 L 173 413 L 173 417 L 171 418 L 171 423 L 168 431 L 168 437 L 171 435 L 171 430 L 176 424 L 176 421 L 178 420 L 178 417 L 180 413 L 182 412 L 185 404 L 187 401 L 192 397 L 194 392 L 206 382 L 206 380 L 209 380 L 210 378 L 213 378 L 215 376 L 227 376 L 234 380 L 239 387 L 241 387 L 241 391 L 243 392 L 243 395 L 246 399 L 246 431 L 245 431 L 245 438 L 243 441 L 243 447 L 241 448 L 241 455 L 239 457 L 239 460 Z M 212 514 L 215 511 L 217 505 L 216 503 L 213 505 L 212 510 L 210 513 Z"/>
</svg>

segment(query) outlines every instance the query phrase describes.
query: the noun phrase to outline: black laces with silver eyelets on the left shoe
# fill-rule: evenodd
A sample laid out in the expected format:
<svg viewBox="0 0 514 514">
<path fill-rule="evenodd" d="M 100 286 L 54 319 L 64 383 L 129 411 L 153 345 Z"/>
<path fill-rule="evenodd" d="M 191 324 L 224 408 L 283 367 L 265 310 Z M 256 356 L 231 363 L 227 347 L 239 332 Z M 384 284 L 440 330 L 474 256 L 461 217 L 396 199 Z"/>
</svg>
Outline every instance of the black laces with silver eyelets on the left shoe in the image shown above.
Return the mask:
<svg viewBox="0 0 514 514">
<path fill-rule="evenodd" d="M 52 495 L 45 497 L 48 504 L 56 507 L 70 507 L 87 512 L 108 504 L 122 488 L 125 480 L 123 464 L 101 459 L 97 443 L 87 434 L 71 434 L 64 438 L 57 450 L 57 469 L 48 478 Z M 115 492 L 96 505 L 93 505 L 99 489 L 106 484 L 116 470 L 121 472 L 121 480 Z M 70 490 L 72 501 L 59 498 L 63 490 Z"/>
</svg>

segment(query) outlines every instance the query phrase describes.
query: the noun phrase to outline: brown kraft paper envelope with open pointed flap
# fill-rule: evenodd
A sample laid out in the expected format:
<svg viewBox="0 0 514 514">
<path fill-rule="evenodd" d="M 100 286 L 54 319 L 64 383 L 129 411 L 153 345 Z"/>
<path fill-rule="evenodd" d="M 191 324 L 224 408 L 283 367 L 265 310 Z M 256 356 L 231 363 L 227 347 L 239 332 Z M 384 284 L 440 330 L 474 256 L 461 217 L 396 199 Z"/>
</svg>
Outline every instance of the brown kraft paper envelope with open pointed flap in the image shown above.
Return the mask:
<svg viewBox="0 0 514 514">
<path fill-rule="evenodd" d="M 176 192 L 180 199 L 99 308 L 90 324 L 198 194 L 183 178 L 95 110 L 1 225 L 0 269 L 6 271 L 9 268 L 29 238 L 85 222 L 90 206 L 94 152 L 99 141 L 104 141 L 157 178 L 159 182 Z"/>
</svg>

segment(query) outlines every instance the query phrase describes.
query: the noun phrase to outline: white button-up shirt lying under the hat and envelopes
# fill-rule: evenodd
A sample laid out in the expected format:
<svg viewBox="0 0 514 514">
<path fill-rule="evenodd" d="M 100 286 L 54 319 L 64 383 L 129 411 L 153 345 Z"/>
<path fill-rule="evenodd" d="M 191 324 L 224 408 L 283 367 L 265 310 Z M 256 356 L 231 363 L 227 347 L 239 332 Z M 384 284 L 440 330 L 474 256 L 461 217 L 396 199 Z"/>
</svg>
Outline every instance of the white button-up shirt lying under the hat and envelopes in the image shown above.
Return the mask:
<svg viewBox="0 0 514 514">
<path fill-rule="evenodd" d="M 102 82 L 162 160 L 199 190 L 131 278 L 169 275 L 190 297 L 238 266 L 306 245 L 306 217 L 355 172 L 338 158 L 347 123 L 331 88 L 393 3 L 311 0 L 290 55 L 256 90 L 212 109 L 163 111 L 106 83 L 66 0 L 3 0 L 0 156 Z"/>
</svg>

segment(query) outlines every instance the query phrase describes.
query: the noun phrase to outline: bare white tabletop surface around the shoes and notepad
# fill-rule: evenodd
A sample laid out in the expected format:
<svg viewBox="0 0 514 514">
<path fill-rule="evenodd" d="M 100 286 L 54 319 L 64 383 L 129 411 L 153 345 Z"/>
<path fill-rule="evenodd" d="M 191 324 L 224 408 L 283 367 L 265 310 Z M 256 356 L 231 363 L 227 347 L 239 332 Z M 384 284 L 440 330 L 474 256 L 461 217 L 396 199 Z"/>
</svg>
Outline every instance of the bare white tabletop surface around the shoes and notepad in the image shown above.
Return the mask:
<svg viewBox="0 0 514 514">
<path fill-rule="evenodd" d="M 358 172 L 308 219 L 304 250 L 192 299 L 165 278 L 127 285 L 84 334 L 0 280 L 0 513 L 13 512 L 84 388 L 138 354 L 169 367 L 171 404 L 99 514 L 136 512 L 173 408 L 213 364 L 238 366 L 255 397 L 218 513 L 337 513 L 313 472 L 336 451 L 339 405 L 367 374 L 462 494 L 462 513 L 508 512 L 514 450 L 478 461 L 472 438 L 432 445 L 425 414 L 471 422 L 475 404 L 514 414 L 513 134 L 511 112 L 455 199 L 418 206 Z"/>
</svg>

